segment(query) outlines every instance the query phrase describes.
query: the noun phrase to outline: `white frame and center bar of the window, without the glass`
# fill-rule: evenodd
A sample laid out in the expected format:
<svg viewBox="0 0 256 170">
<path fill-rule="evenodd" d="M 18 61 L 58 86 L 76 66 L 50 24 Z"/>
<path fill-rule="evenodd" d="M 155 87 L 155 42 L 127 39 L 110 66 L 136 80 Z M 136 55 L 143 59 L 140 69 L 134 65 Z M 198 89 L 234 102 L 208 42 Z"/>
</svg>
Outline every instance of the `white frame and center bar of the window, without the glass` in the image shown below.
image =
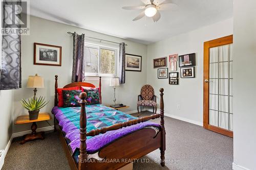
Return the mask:
<svg viewBox="0 0 256 170">
<path fill-rule="evenodd" d="M 119 46 L 114 46 L 114 45 L 109 45 L 109 44 L 102 44 L 102 43 L 91 43 L 91 42 L 86 42 L 84 43 L 84 47 L 91 47 L 91 48 L 97 48 L 98 49 L 98 73 L 87 73 L 84 72 L 84 76 L 89 76 L 89 77 L 114 77 L 118 76 L 118 65 L 119 65 Z M 104 50 L 111 50 L 115 51 L 115 72 L 114 74 L 100 74 L 100 49 Z M 84 56 L 86 57 L 86 56 Z"/>
</svg>

